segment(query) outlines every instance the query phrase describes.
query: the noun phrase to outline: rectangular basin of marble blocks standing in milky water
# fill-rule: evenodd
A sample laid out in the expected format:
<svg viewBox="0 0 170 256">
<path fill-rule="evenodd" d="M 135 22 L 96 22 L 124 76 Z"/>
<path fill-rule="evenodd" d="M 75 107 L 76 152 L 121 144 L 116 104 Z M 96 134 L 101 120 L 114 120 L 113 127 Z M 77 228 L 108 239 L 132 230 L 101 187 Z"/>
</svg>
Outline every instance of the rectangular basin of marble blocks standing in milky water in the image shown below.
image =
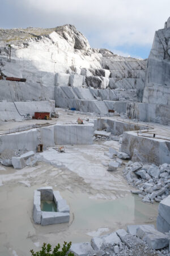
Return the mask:
<svg viewBox="0 0 170 256">
<path fill-rule="evenodd" d="M 54 201 L 57 212 L 44 212 L 41 210 L 41 200 Z M 42 187 L 34 192 L 33 197 L 33 221 L 42 226 L 69 222 L 70 209 L 66 200 L 59 191 L 53 191 L 52 187 Z"/>
</svg>

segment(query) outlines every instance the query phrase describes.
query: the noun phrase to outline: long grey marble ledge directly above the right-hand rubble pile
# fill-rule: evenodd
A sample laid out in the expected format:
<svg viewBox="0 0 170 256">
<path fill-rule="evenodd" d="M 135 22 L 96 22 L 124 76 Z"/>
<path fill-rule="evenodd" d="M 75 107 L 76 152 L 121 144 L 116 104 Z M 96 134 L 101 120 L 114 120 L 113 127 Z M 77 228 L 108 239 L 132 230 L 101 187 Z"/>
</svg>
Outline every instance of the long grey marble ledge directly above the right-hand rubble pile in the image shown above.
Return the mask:
<svg viewBox="0 0 170 256">
<path fill-rule="evenodd" d="M 135 155 L 135 160 L 143 163 L 154 163 L 157 166 L 170 163 L 170 142 L 164 139 L 147 138 L 138 136 L 133 131 L 123 134 L 121 151 L 130 158 Z"/>
</svg>

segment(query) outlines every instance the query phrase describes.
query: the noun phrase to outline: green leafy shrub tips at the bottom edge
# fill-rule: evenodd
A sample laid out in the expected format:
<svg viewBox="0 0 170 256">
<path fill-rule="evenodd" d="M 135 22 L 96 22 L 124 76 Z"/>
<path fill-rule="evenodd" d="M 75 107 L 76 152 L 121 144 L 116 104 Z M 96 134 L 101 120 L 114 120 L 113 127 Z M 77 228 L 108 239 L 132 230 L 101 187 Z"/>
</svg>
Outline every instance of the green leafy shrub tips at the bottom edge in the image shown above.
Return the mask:
<svg viewBox="0 0 170 256">
<path fill-rule="evenodd" d="M 52 251 L 52 246 L 50 245 L 50 243 L 48 243 L 48 245 L 46 245 L 46 243 L 43 243 L 40 251 L 37 251 L 35 253 L 35 251 L 31 250 L 31 253 L 32 256 L 74 256 L 74 253 L 68 253 L 70 247 L 71 242 L 64 242 L 62 248 L 58 243 L 58 245 L 54 247 Z M 59 251 L 59 249 L 61 250 Z"/>
</svg>

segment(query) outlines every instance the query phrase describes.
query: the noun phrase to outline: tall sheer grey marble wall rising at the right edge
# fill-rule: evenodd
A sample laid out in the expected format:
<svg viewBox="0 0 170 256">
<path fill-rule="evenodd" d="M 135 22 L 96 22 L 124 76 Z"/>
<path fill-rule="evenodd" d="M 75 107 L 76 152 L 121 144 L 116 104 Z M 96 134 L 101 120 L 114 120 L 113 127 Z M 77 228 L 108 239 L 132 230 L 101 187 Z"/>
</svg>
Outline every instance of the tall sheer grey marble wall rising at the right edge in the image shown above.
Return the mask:
<svg viewBox="0 0 170 256">
<path fill-rule="evenodd" d="M 127 115 L 145 122 L 167 125 L 170 120 L 170 27 L 155 32 L 148 58 L 141 103 L 128 103 Z"/>
</svg>

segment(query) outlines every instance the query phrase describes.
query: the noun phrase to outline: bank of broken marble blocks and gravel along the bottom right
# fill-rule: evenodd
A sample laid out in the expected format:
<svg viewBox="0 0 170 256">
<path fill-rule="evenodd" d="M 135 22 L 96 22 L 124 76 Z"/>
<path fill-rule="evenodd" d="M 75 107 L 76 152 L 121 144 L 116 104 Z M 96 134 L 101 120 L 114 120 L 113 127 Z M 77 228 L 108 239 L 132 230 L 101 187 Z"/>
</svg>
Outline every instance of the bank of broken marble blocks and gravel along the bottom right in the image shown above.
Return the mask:
<svg viewBox="0 0 170 256">
<path fill-rule="evenodd" d="M 129 225 L 111 234 L 93 237 L 91 242 L 73 243 L 71 251 L 75 256 L 104 255 L 170 255 L 170 233 L 163 234 L 154 225 Z"/>
</svg>

